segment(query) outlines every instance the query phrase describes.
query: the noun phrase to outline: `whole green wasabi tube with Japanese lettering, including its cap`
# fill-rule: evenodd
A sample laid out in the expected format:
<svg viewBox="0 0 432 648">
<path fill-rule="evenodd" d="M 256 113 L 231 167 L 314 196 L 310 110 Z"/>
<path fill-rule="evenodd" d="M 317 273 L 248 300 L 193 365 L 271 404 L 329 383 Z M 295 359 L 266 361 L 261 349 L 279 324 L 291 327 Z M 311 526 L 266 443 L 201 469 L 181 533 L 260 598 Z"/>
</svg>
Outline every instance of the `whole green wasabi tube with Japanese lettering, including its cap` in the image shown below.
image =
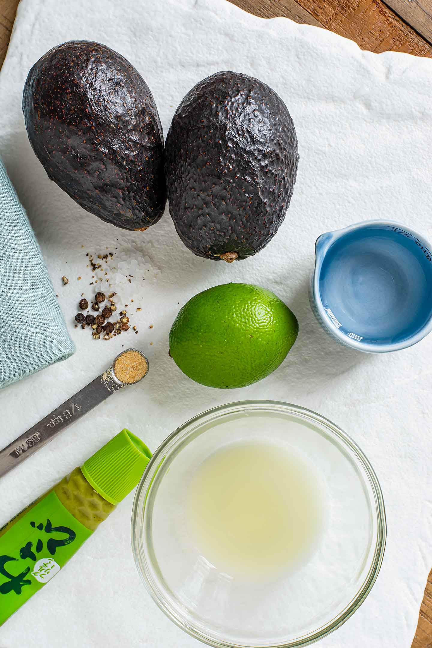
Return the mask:
<svg viewBox="0 0 432 648">
<path fill-rule="evenodd" d="M 0 527 L 0 625 L 66 564 L 138 484 L 151 452 L 122 430 Z"/>
</svg>

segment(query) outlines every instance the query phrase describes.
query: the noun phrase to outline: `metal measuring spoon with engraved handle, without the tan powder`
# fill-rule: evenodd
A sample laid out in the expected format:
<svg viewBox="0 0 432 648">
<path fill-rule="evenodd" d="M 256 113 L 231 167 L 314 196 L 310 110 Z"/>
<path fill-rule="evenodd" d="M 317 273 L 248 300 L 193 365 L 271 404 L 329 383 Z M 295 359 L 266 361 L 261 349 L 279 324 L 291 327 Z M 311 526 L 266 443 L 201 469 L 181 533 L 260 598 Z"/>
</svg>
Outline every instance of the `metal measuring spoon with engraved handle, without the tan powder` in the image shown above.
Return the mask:
<svg viewBox="0 0 432 648">
<path fill-rule="evenodd" d="M 36 423 L 30 430 L 21 434 L 15 441 L 12 441 L 6 448 L 0 451 L 0 477 L 12 470 L 21 461 L 34 454 L 39 448 L 49 443 L 68 425 L 78 421 L 84 414 L 107 399 L 114 391 L 119 391 L 125 386 L 136 384 L 144 378 L 149 369 L 149 362 L 141 351 L 137 351 L 146 360 L 147 371 L 135 382 L 122 382 L 115 373 L 115 364 L 121 356 L 129 351 L 137 349 L 126 349 L 118 354 L 109 369 L 100 376 L 94 378 L 88 385 L 78 391 L 70 399 L 65 400 L 55 410 L 50 412 L 44 419 Z"/>
</svg>

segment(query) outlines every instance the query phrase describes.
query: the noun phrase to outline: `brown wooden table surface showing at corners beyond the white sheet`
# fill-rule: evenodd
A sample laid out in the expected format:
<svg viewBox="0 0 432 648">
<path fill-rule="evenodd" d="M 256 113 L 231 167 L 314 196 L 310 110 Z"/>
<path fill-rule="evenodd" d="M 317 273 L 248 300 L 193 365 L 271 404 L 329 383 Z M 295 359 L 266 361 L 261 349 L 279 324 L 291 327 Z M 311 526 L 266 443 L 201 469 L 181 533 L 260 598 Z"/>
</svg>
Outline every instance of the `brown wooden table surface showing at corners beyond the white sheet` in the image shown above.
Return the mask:
<svg viewBox="0 0 432 648">
<path fill-rule="evenodd" d="M 432 58 L 432 0 L 230 1 L 255 16 L 285 16 L 296 23 L 329 29 L 371 52 L 391 50 Z M 17 5 L 18 0 L 0 0 L 0 65 L 5 60 Z M 378 648 L 365 637 L 365 647 L 369 646 Z M 411 648 L 432 648 L 432 570 Z"/>
</svg>

